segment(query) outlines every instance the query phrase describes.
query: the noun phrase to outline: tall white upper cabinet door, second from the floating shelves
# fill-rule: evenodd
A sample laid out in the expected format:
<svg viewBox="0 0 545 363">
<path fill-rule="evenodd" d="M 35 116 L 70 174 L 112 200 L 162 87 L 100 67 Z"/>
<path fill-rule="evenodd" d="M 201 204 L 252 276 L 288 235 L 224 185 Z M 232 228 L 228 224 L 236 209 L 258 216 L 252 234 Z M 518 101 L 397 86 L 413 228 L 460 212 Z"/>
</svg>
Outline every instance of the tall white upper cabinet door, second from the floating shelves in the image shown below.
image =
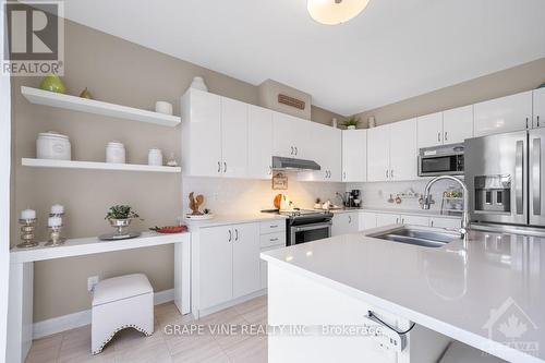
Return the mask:
<svg viewBox="0 0 545 363">
<path fill-rule="evenodd" d="M 222 174 L 230 178 L 246 176 L 247 104 L 221 97 Z"/>
</svg>

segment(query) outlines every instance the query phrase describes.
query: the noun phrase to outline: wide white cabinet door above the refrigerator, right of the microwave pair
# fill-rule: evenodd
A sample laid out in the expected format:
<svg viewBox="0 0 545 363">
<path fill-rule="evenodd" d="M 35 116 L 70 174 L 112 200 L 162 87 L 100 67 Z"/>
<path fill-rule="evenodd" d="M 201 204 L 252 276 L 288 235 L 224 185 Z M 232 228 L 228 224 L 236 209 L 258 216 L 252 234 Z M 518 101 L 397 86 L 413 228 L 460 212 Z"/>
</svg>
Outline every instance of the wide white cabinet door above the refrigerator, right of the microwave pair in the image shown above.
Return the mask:
<svg viewBox="0 0 545 363">
<path fill-rule="evenodd" d="M 475 137 L 525 130 L 531 126 L 532 92 L 474 105 Z"/>
</svg>

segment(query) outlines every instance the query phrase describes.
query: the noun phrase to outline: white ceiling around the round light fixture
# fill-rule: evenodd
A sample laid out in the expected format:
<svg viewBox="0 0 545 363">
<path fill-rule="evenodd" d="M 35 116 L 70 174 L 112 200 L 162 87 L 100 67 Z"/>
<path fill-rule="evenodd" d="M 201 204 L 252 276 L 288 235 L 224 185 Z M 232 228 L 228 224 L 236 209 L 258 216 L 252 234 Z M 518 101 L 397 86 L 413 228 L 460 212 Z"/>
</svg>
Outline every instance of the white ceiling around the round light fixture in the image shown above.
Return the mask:
<svg viewBox="0 0 545 363">
<path fill-rule="evenodd" d="M 371 0 L 315 23 L 305 0 L 65 0 L 68 19 L 341 114 L 545 57 L 544 0 Z"/>
</svg>

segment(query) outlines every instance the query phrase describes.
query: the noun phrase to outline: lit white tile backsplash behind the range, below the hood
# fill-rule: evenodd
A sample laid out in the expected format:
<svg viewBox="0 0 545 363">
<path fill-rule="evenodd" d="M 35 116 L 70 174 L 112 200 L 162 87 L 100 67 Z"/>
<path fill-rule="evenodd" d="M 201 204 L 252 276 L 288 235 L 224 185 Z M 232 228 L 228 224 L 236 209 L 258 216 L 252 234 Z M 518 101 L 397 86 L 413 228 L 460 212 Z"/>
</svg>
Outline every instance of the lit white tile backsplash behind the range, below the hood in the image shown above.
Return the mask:
<svg viewBox="0 0 545 363">
<path fill-rule="evenodd" d="M 187 196 L 191 192 L 205 196 L 204 208 L 215 214 L 252 214 L 272 209 L 275 195 L 284 193 L 296 207 L 312 208 L 317 197 L 340 204 L 335 193 L 343 193 L 342 183 L 301 182 L 294 174 L 288 176 L 288 190 L 274 191 L 270 180 L 243 180 L 228 178 L 193 178 L 182 181 L 183 210 L 189 211 Z"/>
</svg>

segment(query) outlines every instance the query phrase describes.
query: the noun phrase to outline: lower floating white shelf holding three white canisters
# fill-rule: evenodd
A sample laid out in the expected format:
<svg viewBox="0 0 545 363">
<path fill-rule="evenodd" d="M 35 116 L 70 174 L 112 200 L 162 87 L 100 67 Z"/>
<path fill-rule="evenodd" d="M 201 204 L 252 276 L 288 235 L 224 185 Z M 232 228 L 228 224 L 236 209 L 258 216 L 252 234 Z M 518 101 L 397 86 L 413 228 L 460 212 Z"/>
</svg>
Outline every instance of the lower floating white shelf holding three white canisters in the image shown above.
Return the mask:
<svg viewBox="0 0 545 363">
<path fill-rule="evenodd" d="M 96 161 L 72 161 L 23 158 L 21 165 L 35 168 L 61 168 L 61 169 L 97 169 L 97 170 L 121 170 L 121 171 L 153 171 L 153 172 L 182 172 L 180 167 L 154 167 L 140 164 L 109 164 Z"/>
</svg>

